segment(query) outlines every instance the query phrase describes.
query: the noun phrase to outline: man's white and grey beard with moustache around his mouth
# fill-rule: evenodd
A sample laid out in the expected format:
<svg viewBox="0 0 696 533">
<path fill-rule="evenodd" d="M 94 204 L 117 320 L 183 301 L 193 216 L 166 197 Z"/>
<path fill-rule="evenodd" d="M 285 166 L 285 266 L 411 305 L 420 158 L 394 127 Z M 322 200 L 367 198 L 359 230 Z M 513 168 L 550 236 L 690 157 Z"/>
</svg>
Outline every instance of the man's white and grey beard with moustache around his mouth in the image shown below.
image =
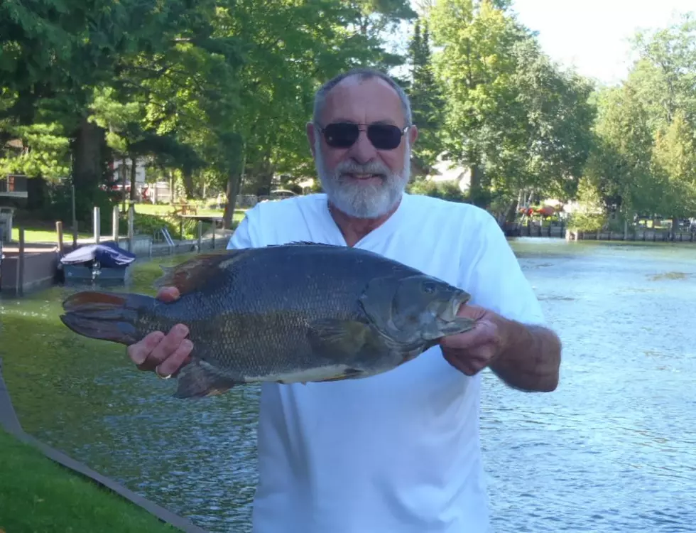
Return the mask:
<svg viewBox="0 0 696 533">
<path fill-rule="evenodd" d="M 386 215 L 396 205 L 410 180 L 410 146 L 408 139 L 403 154 L 403 171 L 393 173 L 380 161 L 360 165 L 354 161 L 342 161 L 333 171 L 326 168 L 322 154 L 321 139 L 315 138 L 315 160 L 317 174 L 329 201 L 346 215 L 356 218 L 378 218 Z M 342 174 L 376 174 L 378 183 L 355 183 Z"/>
</svg>

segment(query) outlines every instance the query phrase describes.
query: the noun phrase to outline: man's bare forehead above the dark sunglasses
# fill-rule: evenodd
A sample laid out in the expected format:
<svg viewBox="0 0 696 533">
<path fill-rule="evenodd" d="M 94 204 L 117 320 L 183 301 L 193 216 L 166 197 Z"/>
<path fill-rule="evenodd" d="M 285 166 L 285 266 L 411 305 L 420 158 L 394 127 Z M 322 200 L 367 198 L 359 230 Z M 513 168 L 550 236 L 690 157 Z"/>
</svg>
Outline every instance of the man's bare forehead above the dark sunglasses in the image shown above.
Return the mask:
<svg viewBox="0 0 696 533">
<path fill-rule="evenodd" d="M 380 77 L 350 76 L 327 93 L 323 112 L 331 119 L 401 122 L 403 108 L 396 90 Z"/>
</svg>

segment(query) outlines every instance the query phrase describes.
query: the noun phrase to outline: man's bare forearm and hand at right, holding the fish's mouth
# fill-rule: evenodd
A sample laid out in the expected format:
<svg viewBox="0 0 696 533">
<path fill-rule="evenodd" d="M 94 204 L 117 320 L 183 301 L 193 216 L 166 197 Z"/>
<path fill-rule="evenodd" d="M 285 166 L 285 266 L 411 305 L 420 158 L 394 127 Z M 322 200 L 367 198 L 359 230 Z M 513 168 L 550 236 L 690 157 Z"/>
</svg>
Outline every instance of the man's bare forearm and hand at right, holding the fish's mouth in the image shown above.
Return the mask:
<svg viewBox="0 0 696 533">
<path fill-rule="evenodd" d="M 510 387 L 525 391 L 558 387 L 561 343 L 552 330 L 479 306 L 462 306 L 457 315 L 477 321 L 474 329 L 440 340 L 442 354 L 457 370 L 473 376 L 491 367 Z"/>
</svg>

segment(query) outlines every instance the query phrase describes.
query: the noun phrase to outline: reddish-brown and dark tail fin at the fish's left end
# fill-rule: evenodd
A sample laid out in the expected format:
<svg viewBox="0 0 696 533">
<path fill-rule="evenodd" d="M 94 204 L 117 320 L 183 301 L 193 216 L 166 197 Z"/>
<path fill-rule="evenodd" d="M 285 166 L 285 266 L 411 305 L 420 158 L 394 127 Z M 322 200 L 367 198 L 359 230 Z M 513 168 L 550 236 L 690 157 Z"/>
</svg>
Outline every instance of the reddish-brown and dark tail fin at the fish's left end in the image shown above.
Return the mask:
<svg viewBox="0 0 696 533">
<path fill-rule="evenodd" d="M 83 337 L 129 345 L 142 338 L 135 327 L 139 311 L 155 301 L 141 294 L 82 291 L 63 301 L 60 320 Z"/>
</svg>

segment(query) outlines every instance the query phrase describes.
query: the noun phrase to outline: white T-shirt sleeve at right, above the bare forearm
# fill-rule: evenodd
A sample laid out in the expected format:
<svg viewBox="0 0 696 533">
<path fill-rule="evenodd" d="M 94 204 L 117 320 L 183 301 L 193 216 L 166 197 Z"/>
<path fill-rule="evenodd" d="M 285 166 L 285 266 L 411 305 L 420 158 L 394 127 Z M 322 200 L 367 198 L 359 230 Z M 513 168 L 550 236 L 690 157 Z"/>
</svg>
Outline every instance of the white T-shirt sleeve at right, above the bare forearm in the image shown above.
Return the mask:
<svg viewBox="0 0 696 533">
<path fill-rule="evenodd" d="M 544 325 L 538 298 L 496 220 L 484 216 L 469 271 L 472 304 L 526 324 Z"/>
</svg>

